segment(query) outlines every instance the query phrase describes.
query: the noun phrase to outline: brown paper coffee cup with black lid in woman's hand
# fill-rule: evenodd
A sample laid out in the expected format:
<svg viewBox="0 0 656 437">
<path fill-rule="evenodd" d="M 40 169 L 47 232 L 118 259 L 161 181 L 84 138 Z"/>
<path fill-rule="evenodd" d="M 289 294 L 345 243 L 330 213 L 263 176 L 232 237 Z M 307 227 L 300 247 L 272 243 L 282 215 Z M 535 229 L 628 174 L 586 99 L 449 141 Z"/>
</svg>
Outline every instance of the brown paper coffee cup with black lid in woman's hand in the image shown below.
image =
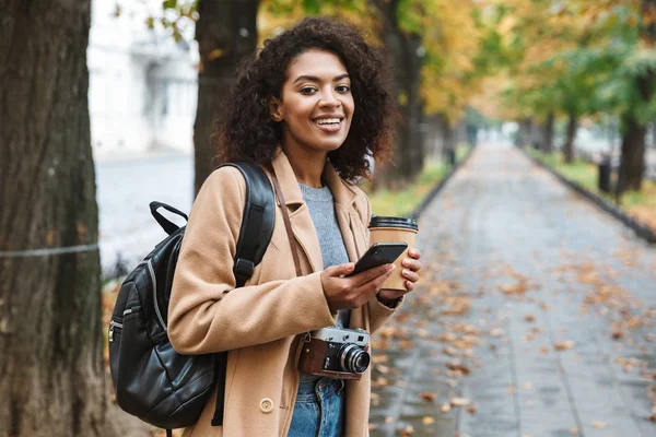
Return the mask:
<svg viewBox="0 0 656 437">
<path fill-rule="evenodd" d="M 403 265 L 401 262 L 405 258 L 408 258 L 408 250 L 414 247 L 414 239 L 419 227 L 414 218 L 406 217 L 390 217 L 372 215 L 372 220 L 368 225 L 370 228 L 370 246 L 376 243 L 407 243 L 408 249 L 403 251 L 394 262 L 396 269 L 391 272 L 391 275 L 385 281 L 382 290 L 397 290 L 407 291 L 406 281 L 408 281 L 401 272 Z"/>
</svg>

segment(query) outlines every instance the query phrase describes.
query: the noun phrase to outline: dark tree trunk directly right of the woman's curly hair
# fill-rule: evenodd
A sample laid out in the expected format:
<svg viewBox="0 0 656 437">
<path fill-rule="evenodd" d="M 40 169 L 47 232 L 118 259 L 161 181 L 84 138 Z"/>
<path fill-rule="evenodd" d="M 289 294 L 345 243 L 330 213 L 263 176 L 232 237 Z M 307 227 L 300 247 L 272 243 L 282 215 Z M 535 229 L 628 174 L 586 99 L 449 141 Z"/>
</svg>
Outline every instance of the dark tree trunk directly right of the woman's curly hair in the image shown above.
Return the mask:
<svg viewBox="0 0 656 437">
<path fill-rule="evenodd" d="M 395 84 L 403 121 L 397 128 L 394 164 L 376 170 L 376 184 L 398 187 L 411 182 L 424 165 L 422 132 L 423 107 L 419 94 L 421 85 L 421 35 L 399 28 L 399 0 L 372 0 L 383 22 L 383 40 L 395 68 Z"/>
</svg>

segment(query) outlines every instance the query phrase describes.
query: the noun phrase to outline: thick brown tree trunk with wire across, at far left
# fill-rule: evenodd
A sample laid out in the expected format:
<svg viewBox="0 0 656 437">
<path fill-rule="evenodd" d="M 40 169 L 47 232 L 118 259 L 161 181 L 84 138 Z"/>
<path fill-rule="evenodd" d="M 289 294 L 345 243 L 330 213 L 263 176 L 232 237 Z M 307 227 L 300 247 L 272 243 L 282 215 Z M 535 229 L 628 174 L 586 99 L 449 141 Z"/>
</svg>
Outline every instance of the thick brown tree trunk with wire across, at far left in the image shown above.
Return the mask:
<svg viewBox="0 0 656 437">
<path fill-rule="evenodd" d="M 0 435 L 107 436 L 91 0 L 2 4 Z"/>
</svg>

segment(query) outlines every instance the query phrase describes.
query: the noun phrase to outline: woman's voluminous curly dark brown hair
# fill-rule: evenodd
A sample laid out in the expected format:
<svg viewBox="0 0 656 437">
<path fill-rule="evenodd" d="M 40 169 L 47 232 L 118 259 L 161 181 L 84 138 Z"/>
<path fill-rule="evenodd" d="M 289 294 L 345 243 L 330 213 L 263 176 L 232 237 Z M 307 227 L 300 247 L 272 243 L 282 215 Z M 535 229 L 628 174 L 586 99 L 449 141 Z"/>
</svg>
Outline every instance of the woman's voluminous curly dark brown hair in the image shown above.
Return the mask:
<svg viewBox="0 0 656 437">
<path fill-rule="evenodd" d="M 246 158 L 270 167 L 282 130 L 271 119 L 268 98 L 280 98 L 290 62 L 311 49 L 338 56 L 351 78 L 355 103 L 351 128 L 344 143 L 328 153 L 337 173 L 348 181 L 370 178 L 368 154 L 380 164 L 391 158 L 398 109 L 389 91 L 387 58 L 354 27 L 333 19 L 308 17 L 267 39 L 243 64 L 224 116 L 216 122 L 220 162 Z"/>
</svg>

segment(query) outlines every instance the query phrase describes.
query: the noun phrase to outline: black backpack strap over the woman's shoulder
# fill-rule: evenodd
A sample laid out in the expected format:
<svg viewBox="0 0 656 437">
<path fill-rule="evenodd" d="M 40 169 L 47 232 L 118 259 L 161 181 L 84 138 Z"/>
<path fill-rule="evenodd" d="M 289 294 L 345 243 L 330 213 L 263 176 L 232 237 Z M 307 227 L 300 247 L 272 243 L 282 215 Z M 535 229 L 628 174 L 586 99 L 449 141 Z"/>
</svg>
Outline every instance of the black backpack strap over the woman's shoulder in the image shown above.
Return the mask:
<svg viewBox="0 0 656 437">
<path fill-rule="evenodd" d="M 271 182 L 259 165 L 239 161 L 223 164 L 221 167 L 224 166 L 237 168 L 246 179 L 244 220 L 239 229 L 233 268 L 237 287 L 241 287 L 253 276 L 255 267 L 259 264 L 267 251 L 273 235 L 276 200 Z"/>
</svg>

